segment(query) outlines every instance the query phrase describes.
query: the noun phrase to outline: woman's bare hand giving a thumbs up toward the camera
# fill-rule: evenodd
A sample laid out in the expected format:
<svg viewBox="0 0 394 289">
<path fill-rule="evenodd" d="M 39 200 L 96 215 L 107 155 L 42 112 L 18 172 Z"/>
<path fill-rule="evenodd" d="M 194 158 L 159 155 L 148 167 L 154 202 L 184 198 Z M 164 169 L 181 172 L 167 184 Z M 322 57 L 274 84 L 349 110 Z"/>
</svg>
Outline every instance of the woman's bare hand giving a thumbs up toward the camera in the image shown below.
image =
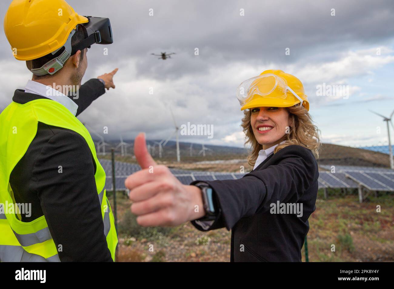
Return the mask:
<svg viewBox="0 0 394 289">
<path fill-rule="evenodd" d="M 169 168 L 156 164 L 147 151 L 143 133 L 134 140 L 134 155 L 141 171 L 130 175 L 125 186 L 130 190 L 131 212 L 138 215 L 139 225 L 177 226 L 205 215 L 201 190 L 182 184 Z"/>
</svg>

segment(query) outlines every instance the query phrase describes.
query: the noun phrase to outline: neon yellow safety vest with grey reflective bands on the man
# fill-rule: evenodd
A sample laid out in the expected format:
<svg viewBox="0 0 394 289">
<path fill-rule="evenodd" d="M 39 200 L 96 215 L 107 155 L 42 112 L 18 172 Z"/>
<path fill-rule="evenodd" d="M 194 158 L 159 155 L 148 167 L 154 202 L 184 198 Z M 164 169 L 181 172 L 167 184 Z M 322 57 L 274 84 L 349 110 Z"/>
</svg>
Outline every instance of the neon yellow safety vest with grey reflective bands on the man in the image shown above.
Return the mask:
<svg viewBox="0 0 394 289">
<path fill-rule="evenodd" d="M 9 177 L 35 137 L 39 121 L 75 131 L 83 136 L 89 145 L 96 162 L 95 180 L 104 234 L 112 260 L 115 260 L 118 239 L 112 210 L 104 190 L 104 169 L 97 160 L 96 149 L 87 129 L 66 107 L 56 101 L 36 99 L 25 104 L 12 102 L 0 114 L 0 204 L 15 204 Z M 1 211 L 1 261 L 60 261 L 44 215 L 26 223 L 20 221 L 20 216 L 15 213 L 7 214 L 5 210 L 5 214 L 2 214 Z"/>
</svg>

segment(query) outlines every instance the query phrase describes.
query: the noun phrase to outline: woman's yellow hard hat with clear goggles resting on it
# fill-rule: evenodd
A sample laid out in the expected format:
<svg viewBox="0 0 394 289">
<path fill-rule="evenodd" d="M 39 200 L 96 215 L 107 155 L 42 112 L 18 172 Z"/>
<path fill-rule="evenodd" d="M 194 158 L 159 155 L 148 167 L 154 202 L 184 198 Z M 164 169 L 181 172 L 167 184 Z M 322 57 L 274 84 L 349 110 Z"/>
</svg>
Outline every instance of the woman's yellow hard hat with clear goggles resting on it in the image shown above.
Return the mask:
<svg viewBox="0 0 394 289">
<path fill-rule="evenodd" d="M 294 75 L 282 70 L 265 70 L 237 88 L 241 110 L 253 107 L 291 107 L 301 103 L 309 111 L 304 86 Z"/>
</svg>

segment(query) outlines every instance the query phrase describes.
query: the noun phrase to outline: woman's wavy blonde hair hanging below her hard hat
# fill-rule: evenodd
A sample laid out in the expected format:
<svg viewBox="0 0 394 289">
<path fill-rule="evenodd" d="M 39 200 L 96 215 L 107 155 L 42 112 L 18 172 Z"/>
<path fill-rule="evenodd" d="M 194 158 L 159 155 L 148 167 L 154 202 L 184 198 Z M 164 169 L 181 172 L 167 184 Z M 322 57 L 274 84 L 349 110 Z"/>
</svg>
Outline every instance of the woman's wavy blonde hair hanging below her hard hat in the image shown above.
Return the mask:
<svg viewBox="0 0 394 289">
<path fill-rule="evenodd" d="M 299 104 L 293 105 L 292 107 L 285 107 L 285 109 L 289 112 L 290 123 L 294 123 L 294 127 L 290 127 L 290 133 L 286 133 L 280 141 L 285 140 L 286 142 L 275 147 L 273 153 L 277 153 L 288 145 L 301 145 L 310 149 L 315 158 L 318 159 L 322 144 L 320 143 L 320 130 L 313 124 L 312 116 L 310 116 L 305 107 Z M 247 161 L 250 166 L 254 166 L 258 152 L 263 149 L 263 146 L 257 142 L 253 133 L 250 124 L 251 111 L 251 109 L 245 109 L 243 111 L 244 118 L 242 119 L 241 127 L 246 135 L 245 147 L 247 147 L 247 144 L 251 144 L 251 152 L 247 157 Z"/>
</svg>

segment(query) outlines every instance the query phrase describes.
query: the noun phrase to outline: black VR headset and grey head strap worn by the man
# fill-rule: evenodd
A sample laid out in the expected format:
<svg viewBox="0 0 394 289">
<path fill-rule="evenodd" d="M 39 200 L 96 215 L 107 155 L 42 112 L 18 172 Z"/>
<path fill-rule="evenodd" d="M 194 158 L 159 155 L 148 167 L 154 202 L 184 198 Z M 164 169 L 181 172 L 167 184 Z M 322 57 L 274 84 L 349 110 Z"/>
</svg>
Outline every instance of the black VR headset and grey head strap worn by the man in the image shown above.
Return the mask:
<svg viewBox="0 0 394 289">
<path fill-rule="evenodd" d="M 71 38 L 77 31 L 77 26 L 76 29 L 71 31 L 66 43 L 58 50 L 55 50 L 51 53 L 52 55 L 60 53 L 58 56 L 54 56 L 54 59 L 51 59 L 39 68 L 33 67 L 33 62 L 31 60 L 26 61 L 27 68 L 37 76 L 42 76 L 46 74 L 52 75 L 58 72 L 61 68 L 63 68 L 63 65 L 66 63 L 66 61 L 78 50 L 82 51 L 85 48 L 90 48 L 90 46 L 95 43 L 113 43 L 110 19 L 91 16 L 85 17 L 89 19 L 89 22 L 81 24 L 85 34 L 84 40 L 78 42 L 74 47 L 71 47 Z"/>
</svg>

